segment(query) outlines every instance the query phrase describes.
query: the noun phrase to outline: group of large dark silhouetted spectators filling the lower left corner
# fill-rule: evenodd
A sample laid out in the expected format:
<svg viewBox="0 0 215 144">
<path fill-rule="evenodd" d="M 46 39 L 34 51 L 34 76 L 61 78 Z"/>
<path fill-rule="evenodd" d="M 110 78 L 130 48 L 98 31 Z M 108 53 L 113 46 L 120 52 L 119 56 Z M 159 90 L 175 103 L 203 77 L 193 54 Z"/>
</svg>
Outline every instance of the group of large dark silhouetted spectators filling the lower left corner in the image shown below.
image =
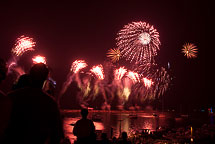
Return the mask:
<svg viewBox="0 0 215 144">
<path fill-rule="evenodd" d="M 6 77 L 1 60 L 1 80 Z M 49 69 L 43 63 L 20 76 L 12 91 L 1 92 L 1 142 L 3 144 L 59 144 L 64 139 L 63 121 L 57 102 L 43 91 Z"/>
</svg>

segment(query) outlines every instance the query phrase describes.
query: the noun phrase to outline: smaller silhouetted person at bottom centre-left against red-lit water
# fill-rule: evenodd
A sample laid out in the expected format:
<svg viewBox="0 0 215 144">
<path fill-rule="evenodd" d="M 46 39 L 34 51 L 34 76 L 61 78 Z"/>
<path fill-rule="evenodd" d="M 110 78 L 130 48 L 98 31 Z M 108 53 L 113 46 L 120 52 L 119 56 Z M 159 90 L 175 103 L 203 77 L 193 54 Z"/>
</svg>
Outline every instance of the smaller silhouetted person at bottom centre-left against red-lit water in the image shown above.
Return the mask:
<svg viewBox="0 0 215 144">
<path fill-rule="evenodd" d="M 95 141 L 95 126 L 92 120 L 87 119 L 88 110 L 82 109 L 82 119 L 75 123 L 73 133 L 77 136 L 78 144 L 90 144 Z"/>
</svg>

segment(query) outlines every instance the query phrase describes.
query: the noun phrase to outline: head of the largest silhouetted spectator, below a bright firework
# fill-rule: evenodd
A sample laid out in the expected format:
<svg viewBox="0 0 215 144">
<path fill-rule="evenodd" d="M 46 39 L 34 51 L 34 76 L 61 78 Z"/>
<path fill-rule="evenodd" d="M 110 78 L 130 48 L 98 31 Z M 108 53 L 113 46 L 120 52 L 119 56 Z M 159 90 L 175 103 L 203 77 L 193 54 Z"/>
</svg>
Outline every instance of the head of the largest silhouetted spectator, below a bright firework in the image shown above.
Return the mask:
<svg viewBox="0 0 215 144">
<path fill-rule="evenodd" d="M 49 69 L 43 63 L 33 65 L 30 69 L 30 77 L 32 80 L 32 86 L 42 88 L 44 81 L 47 79 Z"/>
</svg>

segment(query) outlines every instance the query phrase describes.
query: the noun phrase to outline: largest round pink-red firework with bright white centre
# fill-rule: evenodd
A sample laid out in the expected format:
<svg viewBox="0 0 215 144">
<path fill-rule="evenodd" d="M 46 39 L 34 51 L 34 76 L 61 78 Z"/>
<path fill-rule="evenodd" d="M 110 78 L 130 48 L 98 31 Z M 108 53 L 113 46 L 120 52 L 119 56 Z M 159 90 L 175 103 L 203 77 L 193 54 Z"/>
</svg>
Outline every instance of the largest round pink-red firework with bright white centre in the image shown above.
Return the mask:
<svg viewBox="0 0 215 144">
<path fill-rule="evenodd" d="M 132 22 L 119 31 L 117 40 L 121 55 L 130 62 L 151 61 L 157 55 L 160 40 L 159 33 L 146 22 Z"/>
</svg>

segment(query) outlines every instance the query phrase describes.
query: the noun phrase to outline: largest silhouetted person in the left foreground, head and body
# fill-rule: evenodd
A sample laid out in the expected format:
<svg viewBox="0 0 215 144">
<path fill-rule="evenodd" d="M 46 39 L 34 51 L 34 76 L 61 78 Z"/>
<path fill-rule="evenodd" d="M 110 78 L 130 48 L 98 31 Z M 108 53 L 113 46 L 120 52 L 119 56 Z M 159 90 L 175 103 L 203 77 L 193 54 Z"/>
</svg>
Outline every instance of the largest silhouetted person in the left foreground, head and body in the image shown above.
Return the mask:
<svg viewBox="0 0 215 144">
<path fill-rule="evenodd" d="M 59 144 L 64 138 L 58 105 L 42 91 L 48 73 L 45 64 L 35 64 L 30 87 L 8 94 L 13 109 L 4 143 Z"/>
</svg>

